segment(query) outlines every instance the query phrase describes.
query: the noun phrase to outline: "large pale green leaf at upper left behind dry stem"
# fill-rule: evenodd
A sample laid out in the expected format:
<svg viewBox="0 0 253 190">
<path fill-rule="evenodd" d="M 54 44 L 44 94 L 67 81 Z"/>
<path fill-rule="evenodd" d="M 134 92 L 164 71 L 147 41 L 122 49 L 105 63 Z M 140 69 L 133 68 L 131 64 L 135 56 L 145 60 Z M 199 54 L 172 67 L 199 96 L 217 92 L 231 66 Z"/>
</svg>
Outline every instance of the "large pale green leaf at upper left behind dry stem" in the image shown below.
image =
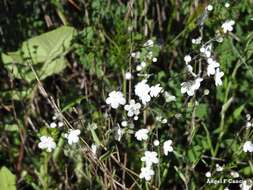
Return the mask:
<svg viewBox="0 0 253 190">
<path fill-rule="evenodd" d="M 31 82 L 61 72 L 66 67 L 65 54 L 70 50 L 71 41 L 76 34 L 73 27 L 63 26 L 24 41 L 16 52 L 2 54 L 5 68 L 15 78 Z"/>
</svg>

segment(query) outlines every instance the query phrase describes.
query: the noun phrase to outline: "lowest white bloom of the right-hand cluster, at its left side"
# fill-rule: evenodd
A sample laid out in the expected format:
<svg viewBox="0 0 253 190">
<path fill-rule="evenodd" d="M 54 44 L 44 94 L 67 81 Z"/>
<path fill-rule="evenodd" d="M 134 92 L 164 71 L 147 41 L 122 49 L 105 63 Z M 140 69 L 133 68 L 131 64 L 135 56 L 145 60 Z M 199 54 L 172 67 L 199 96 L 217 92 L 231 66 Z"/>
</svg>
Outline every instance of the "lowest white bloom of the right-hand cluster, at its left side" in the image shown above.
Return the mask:
<svg viewBox="0 0 253 190">
<path fill-rule="evenodd" d="M 188 96 L 193 96 L 195 90 L 199 89 L 202 80 L 202 78 L 196 78 L 195 80 L 181 83 L 181 93 L 187 93 Z"/>
</svg>

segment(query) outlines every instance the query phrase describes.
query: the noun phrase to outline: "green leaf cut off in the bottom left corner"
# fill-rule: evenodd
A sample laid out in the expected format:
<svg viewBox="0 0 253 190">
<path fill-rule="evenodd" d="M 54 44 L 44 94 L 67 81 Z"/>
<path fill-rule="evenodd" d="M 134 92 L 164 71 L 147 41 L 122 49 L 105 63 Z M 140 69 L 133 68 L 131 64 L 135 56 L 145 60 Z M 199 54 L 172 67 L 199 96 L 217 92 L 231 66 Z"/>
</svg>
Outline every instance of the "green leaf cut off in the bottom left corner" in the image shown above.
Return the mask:
<svg viewBox="0 0 253 190">
<path fill-rule="evenodd" d="M 6 167 L 2 167 L 0 170 L 0 189 L 3 190 L 16 189 L 16 177 Z"/>
</svg>

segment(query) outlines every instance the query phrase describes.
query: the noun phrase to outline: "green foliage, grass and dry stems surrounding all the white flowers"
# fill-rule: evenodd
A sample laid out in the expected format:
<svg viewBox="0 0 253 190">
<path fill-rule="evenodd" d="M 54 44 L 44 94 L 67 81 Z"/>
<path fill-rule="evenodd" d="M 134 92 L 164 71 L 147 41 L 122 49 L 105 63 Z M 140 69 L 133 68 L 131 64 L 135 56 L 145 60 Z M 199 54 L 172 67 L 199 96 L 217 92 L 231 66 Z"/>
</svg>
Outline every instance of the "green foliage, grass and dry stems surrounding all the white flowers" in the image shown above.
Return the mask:
<svg viewBox="0 0 253 190">
<path fill-rule="evenodd" d="M 222 179 L 231 178 L 233 170 L 239 179 L 252 178 L 252 154 L 242 147 L 252 140 L 252 128 L 245 125 L 246 114 L 253 115 L 253 1 L 230 1 L 229 8 L 225 2 L 2 0 L 0 190 L 15 189 L 15 183 L 21 190 L 224 189 L 229 185 L 206 184 L 205 173 Z M 208 4 L 214 10 L 201 30 L 198 23 Z M 213 47 L 223 85 L 205 80 L 196 96 L 182 95 L 180 84 L 188 77 L 184 56 L 199 51 L 191 40 L 200 31 L 204 42 L 210 40 L 227 19 L 236 22 L 233 33 Z M 127 94 L 131 85 L 124 73 L 136 65 L 130 54 L 150 38 L 158 44 L 158 62 L 145 72 L 176 101 L 152 102 L 145 122 L 134 123 L 136 129 L 152 129 L 145 145 L 136 141 L 132 129 L 118 142 L 114 127 L 123 111 L 110 110 L 105 99 L 117 89 Z M 205 89 L 210 92 L 206 96 Z M 65 126 L 47 128 L 58 112 Z M 157 115 L 168 124 L 156 122 Z M 80 143 L 66 143 L 68 127 L 82 131 Z M 38 148 L 45 134 L 57 143 L 52 153 Z M 145 182 L 138 178 L 140 157 L 145 146 L 162 154 L 152 145 L 157 137 L 172 139 L 174 152 L 160 157 L 156 175 Z M 89 149 L 94 143 L 97 158 Z M 217 163 L 223 172 L 215 171 Z"/>
</svg>

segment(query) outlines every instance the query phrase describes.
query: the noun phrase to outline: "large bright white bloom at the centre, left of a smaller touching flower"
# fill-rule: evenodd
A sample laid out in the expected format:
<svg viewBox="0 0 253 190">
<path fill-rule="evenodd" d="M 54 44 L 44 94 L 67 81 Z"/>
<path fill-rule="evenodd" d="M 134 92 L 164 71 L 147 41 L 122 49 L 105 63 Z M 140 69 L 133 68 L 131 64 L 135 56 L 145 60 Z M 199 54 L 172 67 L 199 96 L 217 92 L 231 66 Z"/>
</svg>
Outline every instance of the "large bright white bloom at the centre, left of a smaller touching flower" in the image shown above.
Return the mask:
<svg viewBox="0 0 253 190">
<path fill-rule="evenodd" d="M 147 83 L 147 80 L 142 80 L 141 82 L 137 83 L 134 87 L 134 93 L 138 96 L 144 105 L 147 104 L 151 100 L 149 96 L 150 87 Z"/>
</svg>

